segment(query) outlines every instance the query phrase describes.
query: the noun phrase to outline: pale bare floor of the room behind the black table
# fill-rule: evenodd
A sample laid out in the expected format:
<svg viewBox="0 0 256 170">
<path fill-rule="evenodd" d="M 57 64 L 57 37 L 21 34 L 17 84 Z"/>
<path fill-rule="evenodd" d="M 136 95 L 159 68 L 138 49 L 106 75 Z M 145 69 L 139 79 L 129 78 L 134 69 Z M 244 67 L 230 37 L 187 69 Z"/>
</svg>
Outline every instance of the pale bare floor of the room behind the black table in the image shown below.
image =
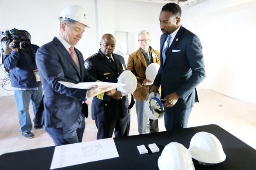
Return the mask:
<svg viewBox="0 0 256 170">
<path fill-rule="evenodd" d="M 196 103 L 192 110 L 189 127 L 216 124 L 256 149 L 256 105 L 205 89 L 199 89 L 198 95 L 200 103 Z M 0 97 L 0 108 L 0 155 L 54 145 L 43 129 L 32 129 L 35 134 L 32 139 L 26 139 L 21 135 L 13 96 Z M 32 107 L 30 113 L 33 119 Z M 163 119 L 159 121 L 159 129 L 165 130 Z M 89 116 L 86 119 L 83 142 L 96 140 L 96 133 L 95 123 Z M 131 111 L 130 135 L 136 134 L 137 116 L 134 106 Z"/>
</svg>

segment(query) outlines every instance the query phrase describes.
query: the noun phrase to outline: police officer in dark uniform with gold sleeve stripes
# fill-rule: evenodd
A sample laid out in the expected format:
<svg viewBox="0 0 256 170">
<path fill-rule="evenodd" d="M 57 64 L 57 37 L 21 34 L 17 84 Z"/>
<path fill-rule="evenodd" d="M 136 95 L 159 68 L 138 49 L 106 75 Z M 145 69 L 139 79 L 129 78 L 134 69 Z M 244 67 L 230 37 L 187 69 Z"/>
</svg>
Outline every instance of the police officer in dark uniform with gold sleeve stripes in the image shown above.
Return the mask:
<svg viewBox="0 0 256 170">
<path fill-rule="evenodd" d="M 117 82 L 119 75 L 125 71 L 125 60 L 122 56 L 113 54 L 116 40 L 111 34 L 104 34 L 97 54 L 85 60 L 87 72 L 103 82 Z M 97 139 L 128 136 L 130 130 L 130 110 L 128 110 L 128 95 L 123 96 L 116 91 L 109 96 L 105 93 L 93 97 L 92 119 L 98 128 Z"/>
</svg>

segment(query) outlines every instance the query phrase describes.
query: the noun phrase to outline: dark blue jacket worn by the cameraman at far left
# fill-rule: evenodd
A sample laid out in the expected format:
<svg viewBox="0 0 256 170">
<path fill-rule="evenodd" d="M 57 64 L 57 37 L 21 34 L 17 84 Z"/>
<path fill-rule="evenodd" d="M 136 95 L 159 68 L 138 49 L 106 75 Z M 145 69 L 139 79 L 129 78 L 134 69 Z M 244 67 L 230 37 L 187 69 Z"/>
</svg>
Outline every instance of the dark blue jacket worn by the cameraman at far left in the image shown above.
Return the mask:
<svg viewBox="0 0 256 170">
<path fill-rule="evenodd" d="M 37 88 L 41 82 L 36 82 L 33 70 L 36 69 L 35 54 L 38 45 L 31 45 L 31 51 L 12 51 L 4 55 L 4 67 L 10 69 L 12 87 Z"/>
</svg>

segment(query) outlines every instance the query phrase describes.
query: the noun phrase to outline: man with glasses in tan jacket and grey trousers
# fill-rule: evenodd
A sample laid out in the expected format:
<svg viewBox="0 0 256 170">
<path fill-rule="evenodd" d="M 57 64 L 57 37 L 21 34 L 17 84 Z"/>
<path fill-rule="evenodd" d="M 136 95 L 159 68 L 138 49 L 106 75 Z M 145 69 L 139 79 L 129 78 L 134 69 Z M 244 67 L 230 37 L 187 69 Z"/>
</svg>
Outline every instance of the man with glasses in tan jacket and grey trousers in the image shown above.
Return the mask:
<svg viewBox="0 0 256 170">
<path fill-rule="evenodd" d="M 140 31 L 138 35 L 140 48 L 131 53 L 128 58 L 127 70 L 130 70 L 137 78 L 137 89 L 133 96 L 136 99 L 136 112 L 138 130 L 140 134 L 146 133 L 148 117 L 144 113 L 144 105 L 149 96 L 153 82 L 146 79 L 145 71 L 149 64 L 156 62 L 160 65 L 159 51 L 154 50 L 151 44 L 151 37 L 148 31 Z M 150 132 L 158 132 L 158 121 L 149 119 Z"/>
</svg>

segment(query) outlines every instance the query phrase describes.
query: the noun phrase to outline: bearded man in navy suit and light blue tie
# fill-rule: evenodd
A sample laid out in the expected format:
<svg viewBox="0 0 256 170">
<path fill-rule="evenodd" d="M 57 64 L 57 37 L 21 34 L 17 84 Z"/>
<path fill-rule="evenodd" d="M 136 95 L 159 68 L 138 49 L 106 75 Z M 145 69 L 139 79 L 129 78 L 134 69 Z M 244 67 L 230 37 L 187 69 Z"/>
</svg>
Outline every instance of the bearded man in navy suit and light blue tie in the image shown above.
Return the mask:
<svg viewBox="0 0 256 170">
<path fill-rule="evenodd" d="M 167 3 L 160 12 L 160 69 L 151 92 L 162 86 L 166 130 L 187 127 L 189 115 L 198 102 L 196 86 L 205 78 L 199 38 L 180 25 L 181 8 Z"/>
</svg>

